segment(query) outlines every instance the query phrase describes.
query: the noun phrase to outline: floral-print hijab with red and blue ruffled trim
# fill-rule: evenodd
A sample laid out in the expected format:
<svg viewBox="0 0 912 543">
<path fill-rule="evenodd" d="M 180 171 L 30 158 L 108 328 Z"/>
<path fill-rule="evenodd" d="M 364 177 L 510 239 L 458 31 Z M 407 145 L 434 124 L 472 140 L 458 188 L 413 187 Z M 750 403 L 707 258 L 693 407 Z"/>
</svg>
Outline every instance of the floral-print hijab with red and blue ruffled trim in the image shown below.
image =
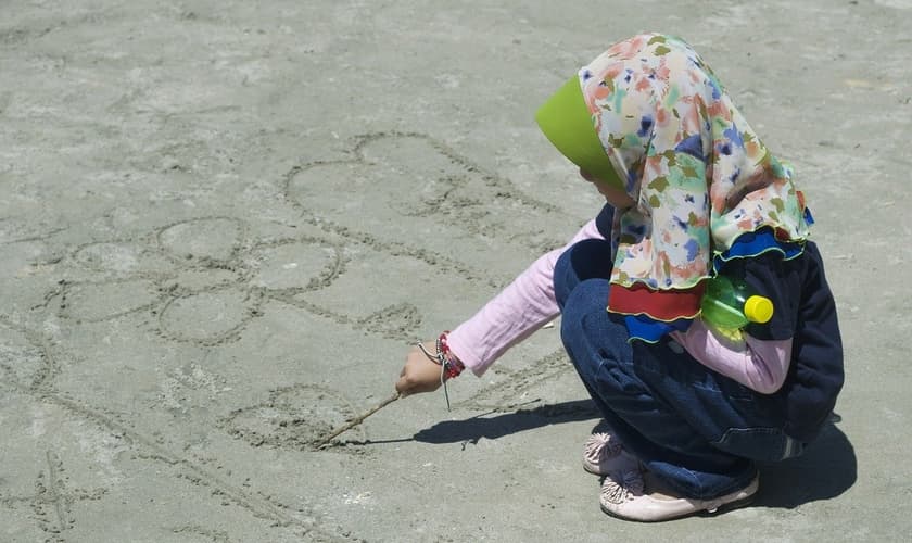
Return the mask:
<svg viewBox="0 0 912 543">
<path fill-rule="evenodd" d="M 598 138 L 637 204 L 615 214 L 608 311 L 656 341 L 699 313 L 722 262 L 801 253 L 810 214 L 702 59 L 680 38 L 620 41 L 579 72 Z"/>
</svg>

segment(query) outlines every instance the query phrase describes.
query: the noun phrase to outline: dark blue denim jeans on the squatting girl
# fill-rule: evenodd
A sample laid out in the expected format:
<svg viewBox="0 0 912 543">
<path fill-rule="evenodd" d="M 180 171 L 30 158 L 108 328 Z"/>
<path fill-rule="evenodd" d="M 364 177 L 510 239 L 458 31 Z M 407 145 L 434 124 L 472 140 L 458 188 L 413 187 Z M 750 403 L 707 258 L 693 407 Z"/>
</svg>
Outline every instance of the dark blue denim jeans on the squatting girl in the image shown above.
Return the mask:
<svg viewBox="0 0 912 543">
<path fill-rule="evenodd" d="M 747 485 L 755 460 L 801 453 L 771 396 L 707 368 L 671 338 L 629 342 L 623 316 L 606 311 L 610 272 L 607 241 L 560 256 L 560 334 L 606 421 L 647 469 L 681 495 L 708 500 Z"/>
</svg>

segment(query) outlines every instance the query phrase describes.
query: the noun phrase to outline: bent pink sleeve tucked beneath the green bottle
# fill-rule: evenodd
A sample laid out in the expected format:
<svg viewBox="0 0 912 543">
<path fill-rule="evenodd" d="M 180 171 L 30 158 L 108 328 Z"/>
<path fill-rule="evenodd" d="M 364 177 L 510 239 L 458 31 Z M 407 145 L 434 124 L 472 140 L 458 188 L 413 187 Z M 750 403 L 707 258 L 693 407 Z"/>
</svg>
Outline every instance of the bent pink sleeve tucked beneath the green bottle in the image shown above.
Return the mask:
<svg viewBox="0 0 912 543">
<path fill-rule="evenodd" d="M 723 343 L 702 320 L 671 336 L 704 366 L 761 394 L 772 394 L 785 381 L 791 361 L 791 339 L 762 341 L 744 334 L 737 345 Z"/>
</svg>

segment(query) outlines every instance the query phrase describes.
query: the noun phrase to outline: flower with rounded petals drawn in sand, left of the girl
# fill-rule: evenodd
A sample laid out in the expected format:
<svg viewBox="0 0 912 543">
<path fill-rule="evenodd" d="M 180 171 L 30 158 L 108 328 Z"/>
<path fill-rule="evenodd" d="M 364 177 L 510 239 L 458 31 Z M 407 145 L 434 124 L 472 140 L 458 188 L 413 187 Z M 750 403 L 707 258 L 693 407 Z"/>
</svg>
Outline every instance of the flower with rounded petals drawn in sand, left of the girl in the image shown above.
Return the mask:
<svg viewBox="0 0 912 543">
<path fill-rule="evenodd" d="M 87 243 L 72 261 L 92 275 L 61 281 L 49 294 L 61 318 L 100 323 L 150 312 L 165 338 L 201 345 L 237 339 L 269 295 L 320 289 L 343 268 L 325 240 L 256 243 L 233 217 Z"/>
</svg>

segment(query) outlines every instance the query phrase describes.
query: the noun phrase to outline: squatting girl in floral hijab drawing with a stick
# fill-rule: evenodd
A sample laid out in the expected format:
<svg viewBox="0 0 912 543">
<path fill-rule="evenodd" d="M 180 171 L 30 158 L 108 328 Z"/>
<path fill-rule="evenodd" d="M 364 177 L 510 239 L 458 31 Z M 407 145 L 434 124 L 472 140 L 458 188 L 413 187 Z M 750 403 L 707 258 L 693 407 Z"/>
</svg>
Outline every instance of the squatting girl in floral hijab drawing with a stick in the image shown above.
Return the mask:
<svg viewBox="0 0 912 543">
<path fill-rule="evenodd" d="M 560 313 L 611 428 L 583 454 L 604 478 L 603 510 L 664 520 L 747 503 L 755 463 L 801 454 L 843 386 L 836 308 L 791 171 L 670 36 L 616 43 L 537 121 L 607 205 L 471 319 L 414 349 L 396 389 L 481 375 Z M 735 334 L 705 323 L 706 280 L 720 274 L 770 299 L 772 319 Z"/>
</svg>

